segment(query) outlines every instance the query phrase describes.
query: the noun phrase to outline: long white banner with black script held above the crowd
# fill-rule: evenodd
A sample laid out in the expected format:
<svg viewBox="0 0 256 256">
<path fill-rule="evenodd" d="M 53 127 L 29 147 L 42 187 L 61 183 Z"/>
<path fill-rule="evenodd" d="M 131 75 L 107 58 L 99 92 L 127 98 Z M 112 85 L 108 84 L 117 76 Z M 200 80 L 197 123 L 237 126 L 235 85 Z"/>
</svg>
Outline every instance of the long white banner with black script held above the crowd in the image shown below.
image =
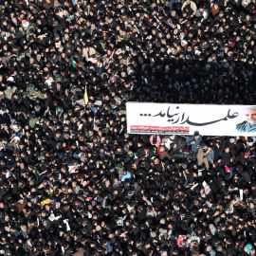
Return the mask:
<svg viewBox="0 0 256 256">
<path fill-rule="evenodd" d="M 256 136 L 256 105 L 127 102 L 130 134 Z"/>
</svg>

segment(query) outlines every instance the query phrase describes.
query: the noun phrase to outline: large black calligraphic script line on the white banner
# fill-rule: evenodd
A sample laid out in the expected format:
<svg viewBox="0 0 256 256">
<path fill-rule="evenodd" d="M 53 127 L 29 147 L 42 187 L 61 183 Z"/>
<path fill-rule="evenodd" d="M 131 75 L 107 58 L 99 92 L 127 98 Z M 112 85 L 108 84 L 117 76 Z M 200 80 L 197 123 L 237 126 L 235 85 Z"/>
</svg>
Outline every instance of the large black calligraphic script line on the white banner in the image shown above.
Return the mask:
<svg viewBox="0 0 256 256">
<path fill-rule="evenodd" d="M 179 109 L 179 107 L 175 107 L 175 112 L 177 112 L 177 109 Z M 192 126 L 206 126 L 206 125 L 210 125 L 210 124 L 213 124 L 213 123 L 216 123 L 216 122 L 219 122 L 219 121 L 222 121 L 222 120 L 229 120 L 229 119 L 235 119 L 239 116 L 239 114 L 237 112 L 234 112 L 232 115 L 230 114 L 230 109 L 228 111 L 228 114 L 221 118 L 221 119 L 214 119 L 214 120 L 211 120 L 211 121 L 207 121 L 207 122 L 195 122 L 195 121 L 192 121 L 190 119 L 190 116 L 186 118 L 186 113 L 183 112 L 182 114 L 180 114 L 179 112 L 178 113 L 172 113 L 172 110 L 171 110 L 171 107 L 168 107 L 167 109 L 167 112 L 163 112 L 162 110 L 153 115 L 153 114 L 139 114 L 140 117 L 152 117 L 152 118 L 167 118 L 167 121 L 168 122 L 171 122 L 171 124 L 184 124 L 184 123 L 187 123 L 189 125 L 192 125 Z"/>
</svg>

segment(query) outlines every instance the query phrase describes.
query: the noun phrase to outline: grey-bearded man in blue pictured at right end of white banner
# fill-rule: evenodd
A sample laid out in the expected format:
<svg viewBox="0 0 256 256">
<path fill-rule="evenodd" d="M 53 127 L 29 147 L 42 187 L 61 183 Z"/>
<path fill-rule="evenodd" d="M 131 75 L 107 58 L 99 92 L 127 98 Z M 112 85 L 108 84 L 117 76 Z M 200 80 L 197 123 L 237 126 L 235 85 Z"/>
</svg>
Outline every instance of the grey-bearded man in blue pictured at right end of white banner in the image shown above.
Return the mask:
<svg viewBox="0 0 256 256">
<path fill-rule="evenodd" d="M 256 132 L 256 107 L 251 106 L 245 109 L 245 121 L 236 125 L 236 131 L 239 133 Z"/>
</svg>

